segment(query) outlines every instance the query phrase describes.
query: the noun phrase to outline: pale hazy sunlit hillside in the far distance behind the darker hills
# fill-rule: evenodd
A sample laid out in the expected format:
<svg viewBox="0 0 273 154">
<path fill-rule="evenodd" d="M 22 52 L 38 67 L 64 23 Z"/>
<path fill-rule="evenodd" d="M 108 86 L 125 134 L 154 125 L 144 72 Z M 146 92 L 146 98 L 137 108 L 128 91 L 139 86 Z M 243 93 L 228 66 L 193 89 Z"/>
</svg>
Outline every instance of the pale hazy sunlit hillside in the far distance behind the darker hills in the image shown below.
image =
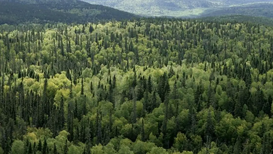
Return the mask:
<svg viewBox="0 0 273 154">
<path fill-rule="evenodd" d="M 272 0 L 83 0 L 91 4 L 100 4 L 149 16 L 191 16 L 202 14 L 206 10 L 230 7 L 254 2 L 272 2 Z"/>
</svg>

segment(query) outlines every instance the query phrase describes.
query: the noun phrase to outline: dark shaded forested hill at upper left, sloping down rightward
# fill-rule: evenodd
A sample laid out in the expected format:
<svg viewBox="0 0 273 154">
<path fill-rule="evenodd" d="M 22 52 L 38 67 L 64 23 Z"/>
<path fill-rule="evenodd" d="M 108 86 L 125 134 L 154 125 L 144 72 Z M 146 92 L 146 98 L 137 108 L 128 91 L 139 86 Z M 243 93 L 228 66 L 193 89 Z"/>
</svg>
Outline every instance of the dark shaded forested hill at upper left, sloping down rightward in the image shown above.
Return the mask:
<svg viewBox="0 0 273 154">
<path fill-rule="evenodd" d="M 78 0 L 0 0 L 0 24 L 28 21 L 84 23 L 130 19 L 134 14 Z"/>
</svg>

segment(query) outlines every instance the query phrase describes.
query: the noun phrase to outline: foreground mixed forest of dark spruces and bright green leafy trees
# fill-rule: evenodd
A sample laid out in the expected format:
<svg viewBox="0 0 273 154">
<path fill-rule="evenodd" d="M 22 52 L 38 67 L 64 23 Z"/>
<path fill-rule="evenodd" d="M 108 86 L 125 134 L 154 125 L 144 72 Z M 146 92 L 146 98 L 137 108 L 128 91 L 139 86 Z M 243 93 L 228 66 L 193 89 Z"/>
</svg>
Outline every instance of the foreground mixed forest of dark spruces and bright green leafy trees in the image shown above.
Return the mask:
<svg viewBox="0 0 273 154">
<path fill-rule="evenodd" d="M 0 154 L 272 153 L 272 27 L 150 18 L 0 33 Z"/>
</svg>

